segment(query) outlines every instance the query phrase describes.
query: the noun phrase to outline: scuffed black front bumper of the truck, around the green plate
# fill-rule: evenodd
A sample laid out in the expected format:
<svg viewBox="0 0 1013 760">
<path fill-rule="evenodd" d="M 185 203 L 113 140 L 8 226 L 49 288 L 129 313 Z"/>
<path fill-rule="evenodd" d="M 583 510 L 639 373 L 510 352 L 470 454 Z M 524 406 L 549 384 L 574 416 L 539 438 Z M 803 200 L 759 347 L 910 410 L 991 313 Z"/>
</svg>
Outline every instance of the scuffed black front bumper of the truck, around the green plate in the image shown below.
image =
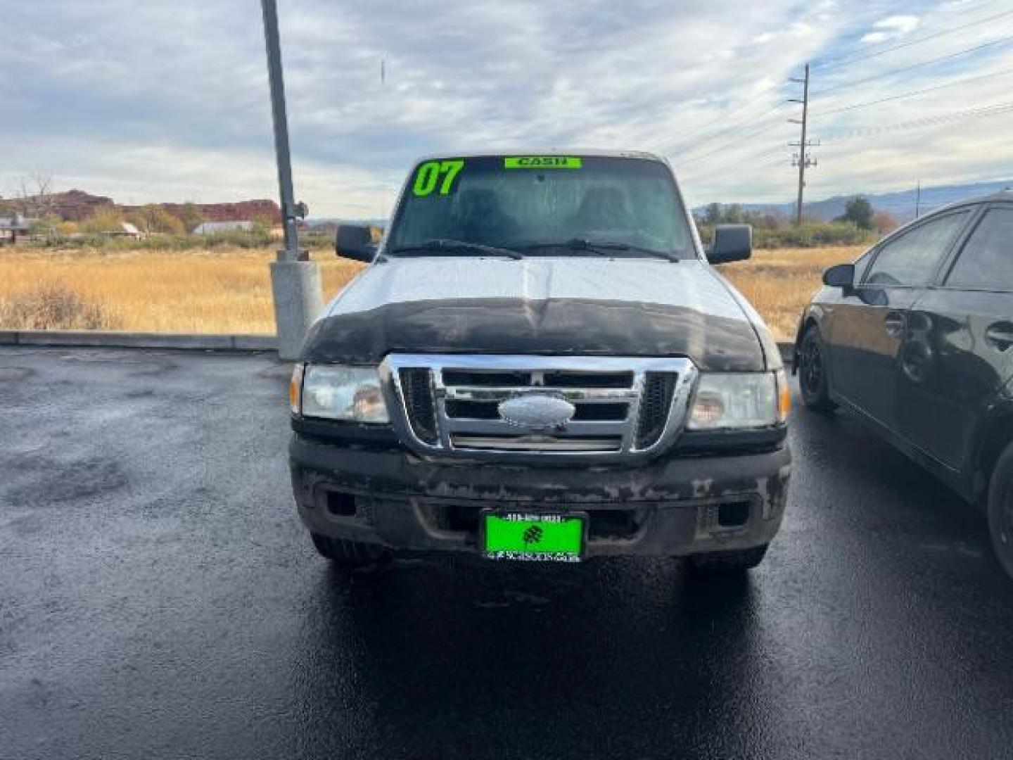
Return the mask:
<svg viewBox="0 0 1013 760">
<path fill-rule="evenodd" d="M 483 509 L 585 512 L 588 556 L 687 555 L 770 543 L 791 471 L 787 444 L 630 467 L 533 467 L 431 462 L 398 449 L 299 434 L 290 461 L 299 515 L 314 533 L 398 550 L 477 552 Z"/>
</svg>

